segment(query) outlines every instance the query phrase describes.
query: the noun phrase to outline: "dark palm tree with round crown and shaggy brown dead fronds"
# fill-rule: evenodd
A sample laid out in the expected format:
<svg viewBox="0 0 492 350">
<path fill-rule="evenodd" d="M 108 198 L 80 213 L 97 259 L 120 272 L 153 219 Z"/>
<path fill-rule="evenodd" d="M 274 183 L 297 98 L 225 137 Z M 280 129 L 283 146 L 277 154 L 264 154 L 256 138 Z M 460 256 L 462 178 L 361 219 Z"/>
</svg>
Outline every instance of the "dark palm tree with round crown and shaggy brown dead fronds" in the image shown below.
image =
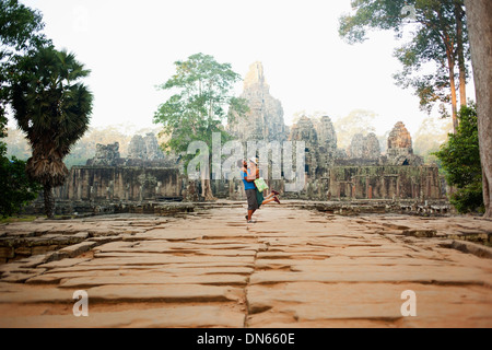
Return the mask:
<svg viewBox="0 0 492 350">
<path fill-rule="evenodd" d="M 44 186 L 45 211 L 54 218 L 52 189 L 68 175 L 62 160 L 89 128 L 93 95 L 80 79 L 90 71 L 73 54 L 52 47 L 24 56 L 17 66 L 11 102 L 19 128 L 33 150 L 26 172 Z"/>
</svg>

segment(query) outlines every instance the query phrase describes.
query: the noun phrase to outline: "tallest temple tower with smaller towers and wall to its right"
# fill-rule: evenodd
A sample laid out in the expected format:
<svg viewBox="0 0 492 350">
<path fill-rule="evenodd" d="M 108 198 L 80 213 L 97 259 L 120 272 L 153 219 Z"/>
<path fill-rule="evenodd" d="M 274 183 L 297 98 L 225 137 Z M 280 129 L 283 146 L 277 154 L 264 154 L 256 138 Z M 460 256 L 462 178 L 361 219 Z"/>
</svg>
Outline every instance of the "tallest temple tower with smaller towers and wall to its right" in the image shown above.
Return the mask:
<svg viewBox="0 0 492 350">
<path fill-rule="evenodd" d="M 329 116 L 320 119 L 303 116 L 288 128 L 283 126 L 280 102 L 269 94 L 260 62 L 250 66 L 242 97 L 249 101 L 250 112 L 245 119 L 234 118 L 227 126 L 241 141 L 305 142 L 306 186 L 301 192 L 284 194 L 288 197 L 316 200 L 444 198 L 437 167 L 424 166 L 423 159 L 413 154 L 411 136 L 401 121 L 389 135 L 386 154 L 382 154 L 374 133 L 354 135 L 347 150 L 338 149 Z M 271 135 L 271 130 L 277 132 Z M 272 184 L 283 188 L 282 184 Z"/>
</svg>

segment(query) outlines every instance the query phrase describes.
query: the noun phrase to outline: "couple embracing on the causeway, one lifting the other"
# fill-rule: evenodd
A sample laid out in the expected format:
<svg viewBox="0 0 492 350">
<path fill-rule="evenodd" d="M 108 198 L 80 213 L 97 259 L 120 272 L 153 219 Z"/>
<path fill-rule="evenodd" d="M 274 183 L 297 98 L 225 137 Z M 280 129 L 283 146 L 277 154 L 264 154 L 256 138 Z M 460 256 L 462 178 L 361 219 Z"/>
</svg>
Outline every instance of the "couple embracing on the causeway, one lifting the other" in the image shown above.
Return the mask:
<svg viewBox="0 0 492 350">
<path fill-rule="evenodd" d="M 251 220 L 251 217 L 260 206 L 272 201 L 280 205 L 280 200 L 277 198 L 279 192 L 272 189 L 271 194 L 263 198 L 263 194 L 256 188 L 255 179 L 259 178 L 258 160 L 256 158 L 249 159 L 249 164 L 245 160 L 238 161 L 237 165 L 242 168 L 241 176 L 243 177 L 244 189 L 248 199 L 248 214 L 245 218 L 248 223 L 255 223 L 256 221 Z"/>
</svg>

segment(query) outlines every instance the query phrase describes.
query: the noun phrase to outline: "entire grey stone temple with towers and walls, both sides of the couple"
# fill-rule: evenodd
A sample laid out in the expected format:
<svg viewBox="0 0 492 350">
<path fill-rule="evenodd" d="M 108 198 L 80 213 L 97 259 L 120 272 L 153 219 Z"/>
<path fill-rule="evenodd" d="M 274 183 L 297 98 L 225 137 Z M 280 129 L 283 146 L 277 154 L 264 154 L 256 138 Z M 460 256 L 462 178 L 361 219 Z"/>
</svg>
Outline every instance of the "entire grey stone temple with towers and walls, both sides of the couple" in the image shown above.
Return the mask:
<svg viewBox="0 0 492 350">
<path fill-rule="evenodd" d="M 285 179 L 266 178 L 270 187 L 282 192 L 282 198 L 352 202 L 445 200 L 445 182 L 437 167 L 425 165 L 413 153 L 411 136 L 401 121 L 389 133 L 385 154 L 374 133 L 354 135 L 347 150 L 339 149 L 329 116 L 303 116 L 293 126 L 285 125 L 282 104 L 270 94 L 261 62 L 250 66 L 241 97 L 248 101 L 249 112 L 245 117 L 230 115 L 225 127 L 237 140 L 305 143 L 303 190 L 288 192 Z M 136 136 L 127 158 L 120 156 L 118 143 L 97 144 L 94 159 L 86 166 L 72 167 L 57 196 L 60 201 L 72 203 L 200 200 L 200 182 L 183 175 L 178 161 L 178 156 L 162 152 L 152 133 Z M 212 190 L 216 198 L 245 198 L 237 179 L 212 180 Z"/>
</svg>

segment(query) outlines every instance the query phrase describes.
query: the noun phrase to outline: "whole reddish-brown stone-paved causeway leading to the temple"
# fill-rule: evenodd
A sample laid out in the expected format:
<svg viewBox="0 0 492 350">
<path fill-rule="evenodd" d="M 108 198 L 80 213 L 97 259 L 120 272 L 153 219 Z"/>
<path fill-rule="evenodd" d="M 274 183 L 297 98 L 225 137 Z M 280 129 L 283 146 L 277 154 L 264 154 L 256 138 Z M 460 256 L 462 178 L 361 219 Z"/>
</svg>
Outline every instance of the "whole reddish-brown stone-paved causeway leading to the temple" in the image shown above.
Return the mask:
<svg viewBox="0 0 492 350">
<path fill-rule="evenodd" d="M 0 327 L 492 327 L 491 248 L 449 238 L 490 221 L 276 205 L 247 224 L 245 211 L 2 225 L 3 238 L 83 242 L 0 265 Z M 89 317 L 72 314 L 75 290 Z"/>
</svg>

